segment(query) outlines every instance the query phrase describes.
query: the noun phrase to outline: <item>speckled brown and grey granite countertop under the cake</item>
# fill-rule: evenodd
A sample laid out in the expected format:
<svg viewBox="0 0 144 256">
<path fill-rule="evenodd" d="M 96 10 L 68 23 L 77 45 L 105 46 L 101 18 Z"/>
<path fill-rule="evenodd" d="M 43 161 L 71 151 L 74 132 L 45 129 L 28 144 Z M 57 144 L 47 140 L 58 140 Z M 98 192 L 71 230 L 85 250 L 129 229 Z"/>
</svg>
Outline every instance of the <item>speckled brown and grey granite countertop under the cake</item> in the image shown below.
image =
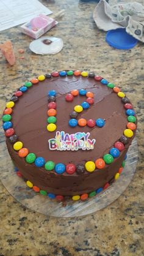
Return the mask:
<svg viewBox="0 0 144 256">
<path fill-rule="evenodd" d="M 12 40 L 16 64 L 10 67 L 0 58 L 1 113 L 5 102 L 23 81 L 53 70 L 91 70 L 126 92 L 137 112 L 139 162 L 131 184 L 107 208 L 85 217 L 59 219 L 34 213 L 18 203 L 0 184 L 0 255 L 38 256 L 130 256 L 143 255 L 143 44 L 131 50 L 116 50 L 105 42 L 92 18 L 96 1 L 42 1 L 54 12 L 65 9 L 59 24 L 47 32 L 62 37 L 63 50 L 54 56 L 35 55 L 32 39 L 19 27 L 2 31 L 1 42 Z M 18 49 L 25 53 L 20 55 Z M 20 59 L 24 56 L 24 59 Z M 2 168 L 1 168 L 2 171 Z"/>
</svg>

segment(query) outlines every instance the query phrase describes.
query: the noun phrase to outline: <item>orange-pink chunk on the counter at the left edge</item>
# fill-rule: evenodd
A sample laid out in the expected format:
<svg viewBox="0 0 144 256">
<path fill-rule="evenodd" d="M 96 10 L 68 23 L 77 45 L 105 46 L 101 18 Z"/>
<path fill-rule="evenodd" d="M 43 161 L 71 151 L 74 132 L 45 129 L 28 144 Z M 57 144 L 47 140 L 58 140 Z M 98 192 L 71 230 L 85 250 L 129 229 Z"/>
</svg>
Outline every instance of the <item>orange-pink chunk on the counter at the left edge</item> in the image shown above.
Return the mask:
<svg viewBox="0 0 144 256">
<path fill-rule="evenodd" d="M 12 43 L 10 41 L 6 41 L 0 45 L 0 49 L 10 66 L 13 66 L 15 64 L 15 54 L 13 52 Z"/>
</svg>

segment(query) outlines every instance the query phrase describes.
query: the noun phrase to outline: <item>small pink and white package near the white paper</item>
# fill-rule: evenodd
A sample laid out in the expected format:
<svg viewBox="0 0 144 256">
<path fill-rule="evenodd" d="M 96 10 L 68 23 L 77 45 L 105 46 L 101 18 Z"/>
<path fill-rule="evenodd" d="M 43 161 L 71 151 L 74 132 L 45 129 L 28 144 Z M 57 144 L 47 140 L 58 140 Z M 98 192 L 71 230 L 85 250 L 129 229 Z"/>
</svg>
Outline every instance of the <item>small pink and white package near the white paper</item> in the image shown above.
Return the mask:
<svg viewBox="0 0 144 256">
<path fill-rule="evenodd" d="M 31 21 L 23 24 L 20 29 L 21 32 L 34 39 L 45 34 L 52 27 L 56 26 L 58 22 L 53 18 L 40 14 L 38 17 L 32 18 Z"/>
</svg>

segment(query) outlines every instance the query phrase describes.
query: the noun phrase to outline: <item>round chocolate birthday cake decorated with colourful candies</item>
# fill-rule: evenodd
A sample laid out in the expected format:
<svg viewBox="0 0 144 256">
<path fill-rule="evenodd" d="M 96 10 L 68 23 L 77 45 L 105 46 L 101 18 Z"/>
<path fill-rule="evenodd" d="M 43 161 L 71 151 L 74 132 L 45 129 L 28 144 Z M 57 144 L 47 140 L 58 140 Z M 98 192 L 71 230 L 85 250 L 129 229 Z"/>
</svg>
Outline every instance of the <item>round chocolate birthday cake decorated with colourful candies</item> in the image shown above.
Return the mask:
<svg viewBox="0 0 144 256">
<path fill-rule="evenodd" d="M 58 201 L 86 200 L 118 179 L 137 123 L 118 86 L 79 70 L 24 82 L 2 121 L 17 175 Z"/>
</svg>

